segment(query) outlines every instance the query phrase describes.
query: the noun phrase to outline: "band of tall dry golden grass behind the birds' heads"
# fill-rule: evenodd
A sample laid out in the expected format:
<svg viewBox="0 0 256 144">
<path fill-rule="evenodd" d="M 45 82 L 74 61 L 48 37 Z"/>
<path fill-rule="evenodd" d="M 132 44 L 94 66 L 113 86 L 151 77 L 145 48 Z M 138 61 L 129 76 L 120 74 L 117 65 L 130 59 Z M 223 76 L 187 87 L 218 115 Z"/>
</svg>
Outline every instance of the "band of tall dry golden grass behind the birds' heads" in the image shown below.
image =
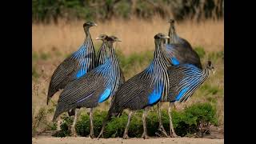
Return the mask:
<svg viewBox="0 0 256 144">
<path fill-rule="evenodd" d="M 82 28 L 84 21 L 65 22 L 60 21 L 58 25 L 50 23 L 32 25 L 32 46 L 34 51 L 47 52 L 55 47 L 66 54 L 70 54 L 82 45 L 85 34 Z M 134 18 L 130 21 L 122 19 L 110 22 L 97 22 L 98 26 L 90 29 L 92 38 L 99 34 L 114 34 L 122 39 L 118 47 L 124 54 L 154 50 L 154 35 L 162 32 L 168 33 L 167 20 L 154 18 L 145 21 Z M 205 22 L 182 22 L 176 24 L 178 35 L 186 38 L 192 46 L 202 46 L 206 51 L 224 49 L 224 22 L 207 20 Z M 94 44 L 100 42 L 94 40 Z"/>
</svg>

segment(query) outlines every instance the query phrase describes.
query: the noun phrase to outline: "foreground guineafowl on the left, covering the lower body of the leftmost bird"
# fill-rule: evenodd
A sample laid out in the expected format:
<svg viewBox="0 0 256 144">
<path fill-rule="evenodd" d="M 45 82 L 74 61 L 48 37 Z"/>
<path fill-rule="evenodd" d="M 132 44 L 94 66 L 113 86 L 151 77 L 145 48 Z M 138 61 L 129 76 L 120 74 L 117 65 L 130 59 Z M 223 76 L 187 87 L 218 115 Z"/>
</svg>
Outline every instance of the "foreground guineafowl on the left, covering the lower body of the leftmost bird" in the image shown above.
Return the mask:
<svg viewBox="0 0 256 144">
<path fill-rule="evenodd" d="M 100 40 L 102 38 L 97 39 Z M 94 138 L 93 108 L 115 94 L 118 90 L 121 76 L 119 61 L 113 48 L 113 42 L 119 42 L 120 40 L 114 36 L 106 36 L 106 41 L 109 48 L 108 58 L 101 66 L 66 85 L 58 99 L 53 119 L 55 121 L 60 114 L 70 109 L 90 108 L 90 138 Z M 76 119 L 73 127 L 75 122 Z M 74 129 L 72 130 L 75 132 Z"/>
</svg>

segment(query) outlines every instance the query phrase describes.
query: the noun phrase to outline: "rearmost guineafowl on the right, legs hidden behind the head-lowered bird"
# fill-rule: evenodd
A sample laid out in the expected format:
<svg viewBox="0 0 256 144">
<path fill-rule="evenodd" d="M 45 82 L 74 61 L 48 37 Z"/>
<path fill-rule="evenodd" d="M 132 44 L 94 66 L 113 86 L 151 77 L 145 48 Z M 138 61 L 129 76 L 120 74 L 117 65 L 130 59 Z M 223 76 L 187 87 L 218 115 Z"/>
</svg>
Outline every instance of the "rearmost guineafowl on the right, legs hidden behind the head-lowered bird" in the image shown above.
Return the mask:
<svg viewBox="0 0 256 144">
<path fill-rule="evenodd" d="M 190 42 L 184 38 L 179 38 L 176 34 L 174 20 L 170 19 L 169 37 L 166 44 L 166 51 L 174 65 L 189 63 L 202 69 L 200 58 L 196 51 L 192 49 Z"/>
</svg>

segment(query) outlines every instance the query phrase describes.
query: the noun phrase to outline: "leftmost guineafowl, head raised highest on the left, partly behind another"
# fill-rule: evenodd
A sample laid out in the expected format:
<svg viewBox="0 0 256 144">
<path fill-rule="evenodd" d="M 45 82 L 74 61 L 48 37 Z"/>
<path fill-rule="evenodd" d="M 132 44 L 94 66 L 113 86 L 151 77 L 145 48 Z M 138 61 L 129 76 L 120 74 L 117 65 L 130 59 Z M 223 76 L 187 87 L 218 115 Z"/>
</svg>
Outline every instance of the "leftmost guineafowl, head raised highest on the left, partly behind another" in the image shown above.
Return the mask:
<svg viewBox="0 0 256 144">
<path fill-rule="evenodd" d="M 85 22 L 83 28 L 86 33 L 86 39 L 78 51 L 71 54 L 54 70 L 54 74 L 50 79 L 50 85 L 47 94 L 47 105 L 50 98 L 58 90 L 64 89 L 68 82 L 76 78 L 80 78 L 90 70 L 94 69 L 95 50 L 94 44 L 90 37 L 89 29 L 91 26 L 97 26 L 94 22 Z"/>
</svg>

